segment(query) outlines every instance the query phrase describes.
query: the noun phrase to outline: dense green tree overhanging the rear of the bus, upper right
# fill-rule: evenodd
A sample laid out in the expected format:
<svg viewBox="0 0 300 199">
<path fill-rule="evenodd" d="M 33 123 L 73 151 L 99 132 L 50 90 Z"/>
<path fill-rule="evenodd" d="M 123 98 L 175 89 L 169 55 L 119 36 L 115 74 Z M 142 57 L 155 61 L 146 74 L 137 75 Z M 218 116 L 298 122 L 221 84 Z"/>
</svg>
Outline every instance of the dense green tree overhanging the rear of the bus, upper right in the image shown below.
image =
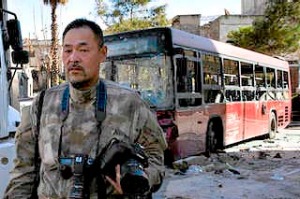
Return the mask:
<svg viewBox="0 0 300 199">
<path fill-rule="evenodd" d="M 229 33 L 234 45 L 269 55 L 285 56 L 300 47 L 299 0 L 274 0 L 269 3 L 264 17 L 259 17 L 249 28 Z"/>
</svg>

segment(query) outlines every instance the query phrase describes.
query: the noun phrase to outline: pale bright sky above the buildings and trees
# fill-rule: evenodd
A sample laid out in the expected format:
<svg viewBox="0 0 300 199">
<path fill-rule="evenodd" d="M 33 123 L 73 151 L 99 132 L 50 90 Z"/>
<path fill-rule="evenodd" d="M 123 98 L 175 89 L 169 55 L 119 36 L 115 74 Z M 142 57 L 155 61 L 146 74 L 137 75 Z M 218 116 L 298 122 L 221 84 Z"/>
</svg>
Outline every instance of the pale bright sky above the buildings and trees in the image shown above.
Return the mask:
<svg viewBox="0 0 300 199">
<path fill-rule="evenodd" d="M 50 39 L 51 9 L 43 0 L 7 0 L 8 10 L 15 12 L 21 23 L 23 38 Z M 154 0 L 156 5 L 167 4 L 167 18 L 176 15 L 201 14 L 201 16 L 241 13 L 241 0 Z M 75 18 L 84 17 L 96 21 L 105 29 L 96 14 L 95 0 L 69 0 L 57 9 L 59 36 L 64 27 Z"/>
</svg>

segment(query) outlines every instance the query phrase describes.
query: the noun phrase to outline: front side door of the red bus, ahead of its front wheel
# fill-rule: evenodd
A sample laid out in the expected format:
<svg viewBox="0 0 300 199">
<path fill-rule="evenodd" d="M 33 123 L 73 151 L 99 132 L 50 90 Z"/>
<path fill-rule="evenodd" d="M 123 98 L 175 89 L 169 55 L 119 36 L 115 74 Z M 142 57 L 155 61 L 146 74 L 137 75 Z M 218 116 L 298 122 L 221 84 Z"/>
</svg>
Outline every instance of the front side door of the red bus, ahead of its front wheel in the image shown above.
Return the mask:
<svg viewBox="0 0 300 199">
<path fill-rule="evenodd" d="M 175 120 L 179 137 L 175 159 L 204 151 L 201 70 L 199 54 L 183 50 L 174 56 L 175 63 Z"/>
</svg>

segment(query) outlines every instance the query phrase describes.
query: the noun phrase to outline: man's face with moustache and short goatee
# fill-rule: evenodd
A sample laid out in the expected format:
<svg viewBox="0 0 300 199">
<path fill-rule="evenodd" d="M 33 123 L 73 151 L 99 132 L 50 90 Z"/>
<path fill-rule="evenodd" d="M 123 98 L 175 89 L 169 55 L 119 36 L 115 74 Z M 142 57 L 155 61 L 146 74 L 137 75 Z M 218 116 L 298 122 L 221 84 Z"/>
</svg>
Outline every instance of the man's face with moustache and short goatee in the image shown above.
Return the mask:
<svg viewBox="0 0 300 199">
<path fill-rule="evenodd" d="M 95 85 L 106 53 L 106 47 L 99 47 L 99 41 L 90 28 L 69 30 L 63 41 L 62 56 L 68 81 L 79 90 Z"/>
</svg>

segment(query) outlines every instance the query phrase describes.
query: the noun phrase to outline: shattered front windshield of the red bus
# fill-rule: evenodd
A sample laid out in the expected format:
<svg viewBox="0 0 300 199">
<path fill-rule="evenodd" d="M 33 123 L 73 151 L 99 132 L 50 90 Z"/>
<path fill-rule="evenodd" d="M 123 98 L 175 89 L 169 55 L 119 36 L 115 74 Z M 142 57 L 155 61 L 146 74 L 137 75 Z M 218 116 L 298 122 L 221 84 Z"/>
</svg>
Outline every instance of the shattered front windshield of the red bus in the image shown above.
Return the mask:
<svg viewBox="0 0 300 199">
<path fill-rule="evenodd" d="M 104 62 L 100 76 L 134 89 L 155 108 L 172 106 L 170 58 L 164 55 Z"/>
</svg>

